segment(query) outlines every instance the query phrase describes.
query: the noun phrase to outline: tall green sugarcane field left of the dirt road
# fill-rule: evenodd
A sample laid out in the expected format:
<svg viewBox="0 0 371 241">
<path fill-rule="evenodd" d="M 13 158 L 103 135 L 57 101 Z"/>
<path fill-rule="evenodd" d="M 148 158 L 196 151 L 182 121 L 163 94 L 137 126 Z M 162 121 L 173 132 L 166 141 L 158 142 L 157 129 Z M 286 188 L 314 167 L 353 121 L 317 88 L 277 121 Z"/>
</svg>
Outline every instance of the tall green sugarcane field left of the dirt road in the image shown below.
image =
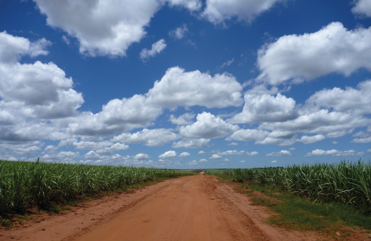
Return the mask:
<svg viewBox="0 0 371 241">
<path fill-rule="evenodd" d="M 37 206 L 191 173 L 149 167 L 93 166 L 0 160 L 0 217 Z"/>
</svg>

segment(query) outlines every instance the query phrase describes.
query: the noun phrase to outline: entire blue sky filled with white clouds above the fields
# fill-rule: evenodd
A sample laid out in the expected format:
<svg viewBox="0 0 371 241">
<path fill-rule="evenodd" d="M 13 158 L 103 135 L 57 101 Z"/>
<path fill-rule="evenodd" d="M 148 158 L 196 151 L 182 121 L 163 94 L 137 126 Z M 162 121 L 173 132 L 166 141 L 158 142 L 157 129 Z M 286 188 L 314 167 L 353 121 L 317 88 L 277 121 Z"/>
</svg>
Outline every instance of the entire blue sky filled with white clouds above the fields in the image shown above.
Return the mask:
<svg viewBox="0 0 371 241">
<path fill-rule="evenodd" d="M 0 0 L 0 159 L 368 162 L 371 0 Z"/>
</svg>

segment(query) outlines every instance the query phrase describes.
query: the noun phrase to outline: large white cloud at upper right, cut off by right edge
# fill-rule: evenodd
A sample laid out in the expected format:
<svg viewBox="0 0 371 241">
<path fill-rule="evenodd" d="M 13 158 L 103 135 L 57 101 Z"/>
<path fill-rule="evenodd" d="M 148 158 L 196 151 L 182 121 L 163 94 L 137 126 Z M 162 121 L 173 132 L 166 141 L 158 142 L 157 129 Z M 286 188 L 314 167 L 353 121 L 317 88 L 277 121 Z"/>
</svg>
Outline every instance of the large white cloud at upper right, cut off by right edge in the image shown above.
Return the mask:
<svg viewBox="0 0 371 241">
<path fill-rule="evenodd" d="M 371 71 L 371 27 L 346 29 L 333 22 L 315 33 L 285 35 L 258 51 L 257 78 L 271 85 L 301 82 L 332 72 L 349 76 L 359 68 Z"/>
</svg>

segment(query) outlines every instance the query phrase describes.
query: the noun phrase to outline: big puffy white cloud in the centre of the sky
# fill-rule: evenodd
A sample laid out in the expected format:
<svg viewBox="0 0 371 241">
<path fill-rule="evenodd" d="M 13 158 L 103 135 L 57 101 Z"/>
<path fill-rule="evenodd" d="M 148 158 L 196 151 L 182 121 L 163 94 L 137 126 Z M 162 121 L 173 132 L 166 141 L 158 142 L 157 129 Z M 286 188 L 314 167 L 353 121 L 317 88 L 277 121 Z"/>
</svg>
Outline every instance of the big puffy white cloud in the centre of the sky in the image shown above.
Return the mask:
<svg viewBox="0 0 371 241">
<path fill-rule="evenodd" d="M 185 72 L 173 67 L 148 91 L 149 102 L 169 109 L 200 105 L 207 108 L 240 106 L 242 86 L 230 74 L 213 77 L 200 71 Z"/>
</svg>

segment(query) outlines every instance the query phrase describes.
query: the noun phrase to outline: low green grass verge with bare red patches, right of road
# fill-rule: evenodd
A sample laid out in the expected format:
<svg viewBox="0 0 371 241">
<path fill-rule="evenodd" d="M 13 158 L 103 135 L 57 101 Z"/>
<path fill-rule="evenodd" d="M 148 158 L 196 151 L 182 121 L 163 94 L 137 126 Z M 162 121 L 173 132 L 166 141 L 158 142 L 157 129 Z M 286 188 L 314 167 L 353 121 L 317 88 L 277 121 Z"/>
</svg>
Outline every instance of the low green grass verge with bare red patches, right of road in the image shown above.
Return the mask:
<svg viewBox="0 0 371 241">
<path fill-rule="evenodd" d="M 236 182 L 230 176 L 216 175 L 218 179 Z M 246 193 L 253 203 L 251 205 L 267 206 L 277 215 L 267 219 L 267 223 L 295 230 L 319 230 L 332 233 L 339 227 L 371 230 L 371 215 L 365 215 L 359 209 L 339 203 L 312 202 L 293 193 L 283 191 L 256 182 L 236 182 L 240 188 L 236 191 Z M 265 197 L 256 196 L 260 192 Z"/>
</svg>

